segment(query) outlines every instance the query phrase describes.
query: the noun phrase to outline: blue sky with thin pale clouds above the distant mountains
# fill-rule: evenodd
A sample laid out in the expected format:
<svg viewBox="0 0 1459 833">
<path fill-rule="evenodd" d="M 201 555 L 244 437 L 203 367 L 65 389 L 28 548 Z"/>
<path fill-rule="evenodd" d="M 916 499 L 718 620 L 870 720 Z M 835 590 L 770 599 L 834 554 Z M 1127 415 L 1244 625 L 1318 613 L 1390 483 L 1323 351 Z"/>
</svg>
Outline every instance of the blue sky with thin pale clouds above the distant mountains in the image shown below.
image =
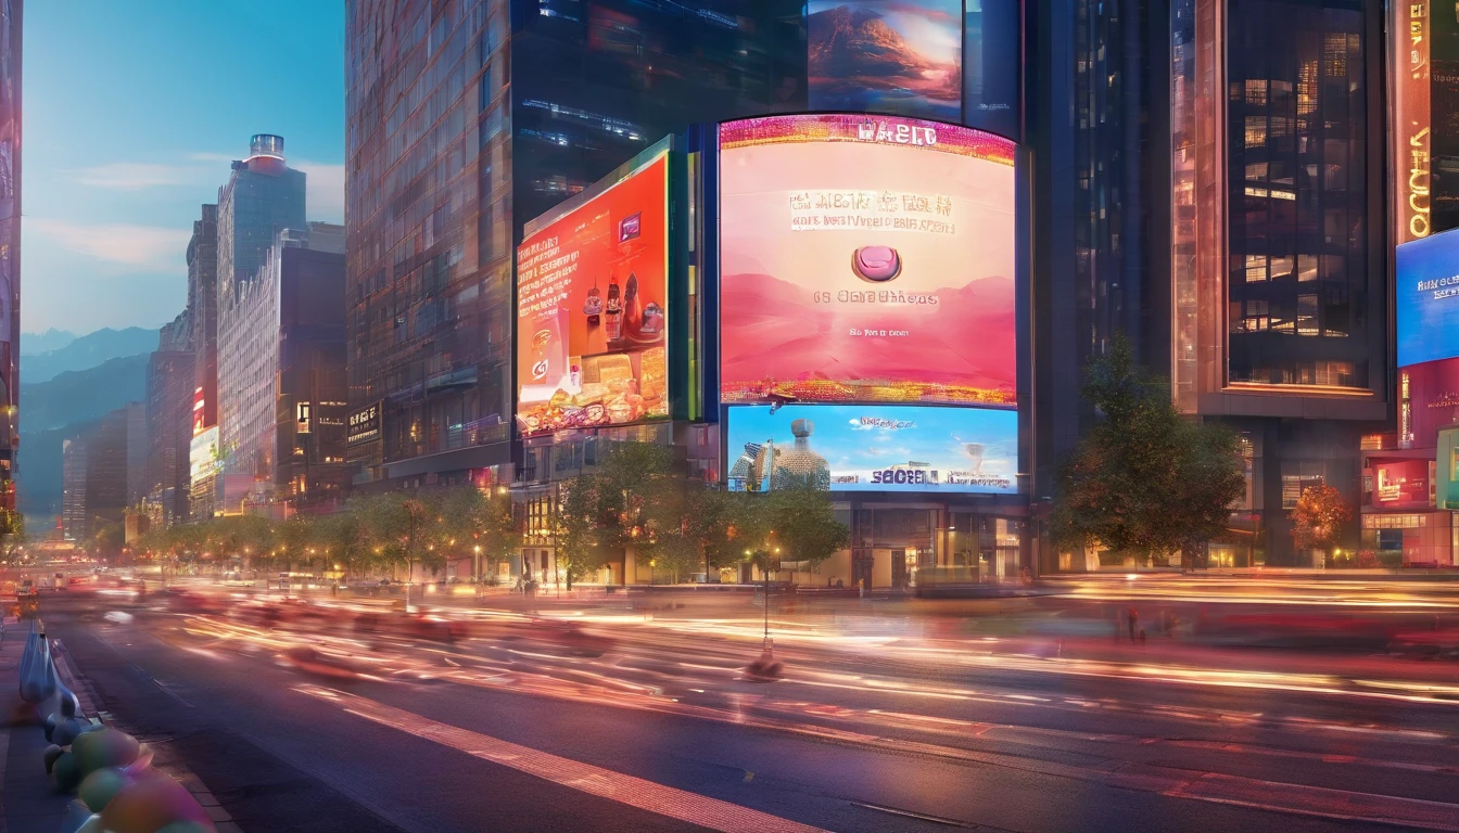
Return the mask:
<svg viewBox="0 0 1459 833">
<path fill-rule="evenodd" d="M 20 328 L 158 327 L 187 242 L 254 133 L 285 137 L 311 220 L 344 216 L 344 3 L 25 4 Z"/>
</svg>

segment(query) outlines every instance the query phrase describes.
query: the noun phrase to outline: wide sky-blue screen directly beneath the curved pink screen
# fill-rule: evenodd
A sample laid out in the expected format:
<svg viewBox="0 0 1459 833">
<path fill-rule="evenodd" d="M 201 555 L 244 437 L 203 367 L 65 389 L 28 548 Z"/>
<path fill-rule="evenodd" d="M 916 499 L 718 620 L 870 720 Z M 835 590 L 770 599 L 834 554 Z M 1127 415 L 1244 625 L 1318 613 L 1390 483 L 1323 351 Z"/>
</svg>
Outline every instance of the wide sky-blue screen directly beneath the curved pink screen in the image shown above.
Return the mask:
<svg viewBox="0 0 1459 833">
<path fill-rule="evenodd" d="M 1018 413 L 928 406 L 734 406 L 730 487 L 1018 490 Z"/>
</svg>

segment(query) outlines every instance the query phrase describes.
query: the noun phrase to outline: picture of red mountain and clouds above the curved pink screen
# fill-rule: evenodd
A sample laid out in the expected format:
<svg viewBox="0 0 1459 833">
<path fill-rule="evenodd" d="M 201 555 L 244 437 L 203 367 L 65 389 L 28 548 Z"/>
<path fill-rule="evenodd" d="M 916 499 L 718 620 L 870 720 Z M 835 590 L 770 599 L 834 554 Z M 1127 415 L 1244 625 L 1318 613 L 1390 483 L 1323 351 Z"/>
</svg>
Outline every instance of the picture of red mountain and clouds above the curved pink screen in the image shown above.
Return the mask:
<svg viewBox="0 0 1459 833">
<path fill-rule="evenodd" d="M 959 121 L 963 0 L 810 0 L 811 109 Z"/>
</svg>

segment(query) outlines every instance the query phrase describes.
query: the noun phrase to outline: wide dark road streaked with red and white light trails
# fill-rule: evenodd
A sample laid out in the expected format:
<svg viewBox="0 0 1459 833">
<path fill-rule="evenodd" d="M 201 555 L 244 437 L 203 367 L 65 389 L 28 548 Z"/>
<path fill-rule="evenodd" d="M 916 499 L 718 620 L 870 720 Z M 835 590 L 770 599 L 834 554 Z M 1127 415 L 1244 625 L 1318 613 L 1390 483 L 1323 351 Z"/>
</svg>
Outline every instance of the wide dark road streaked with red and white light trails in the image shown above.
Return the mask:
<svg viewBox="0 0 1459 833">
<path fill-rule="evenodd" d="M 1459 689 L 1417 662 L 791 635 L 759 684 L 743 623 L 603 617 L 582 656 L 61 595 L 101 708 L 245 830 L 1459 830 Z M 299 645 L 369 677 L 283 667 Z"/>
</svg>

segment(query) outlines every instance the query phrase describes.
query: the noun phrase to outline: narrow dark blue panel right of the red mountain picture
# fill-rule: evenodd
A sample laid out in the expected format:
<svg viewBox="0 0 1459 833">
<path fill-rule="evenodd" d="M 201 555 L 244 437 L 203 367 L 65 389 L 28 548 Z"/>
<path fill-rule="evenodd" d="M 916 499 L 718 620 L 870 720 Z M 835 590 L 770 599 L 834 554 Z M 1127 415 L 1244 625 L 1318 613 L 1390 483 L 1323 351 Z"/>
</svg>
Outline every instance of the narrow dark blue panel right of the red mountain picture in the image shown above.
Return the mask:
<svg viewBox="0 0 1459 833">
<path fill-rule="evenodd" d="M 967 0 L 963 15 L 961 123 L 1001 136 L 1018 134 L 1023 4 Z"/>
</svg>

